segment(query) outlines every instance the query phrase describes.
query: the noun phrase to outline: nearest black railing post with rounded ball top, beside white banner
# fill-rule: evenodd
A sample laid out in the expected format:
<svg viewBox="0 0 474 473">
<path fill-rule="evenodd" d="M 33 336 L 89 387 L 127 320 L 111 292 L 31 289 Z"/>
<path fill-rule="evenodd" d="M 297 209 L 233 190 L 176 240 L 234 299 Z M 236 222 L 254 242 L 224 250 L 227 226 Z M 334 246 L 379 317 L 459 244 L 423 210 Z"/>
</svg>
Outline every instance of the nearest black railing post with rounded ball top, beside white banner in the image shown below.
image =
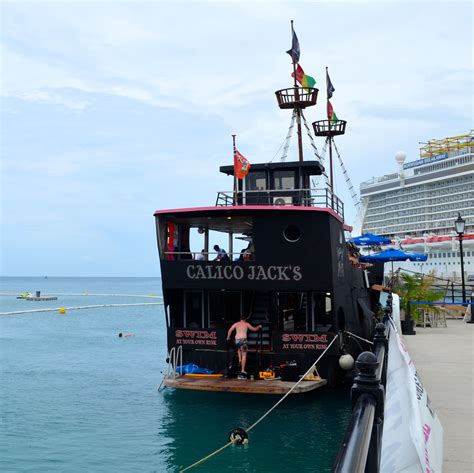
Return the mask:
<svg viewBox="0 0 474 473">
<path fill-rule="evenodd" d="M 380 466 L 380 450 L 382 442 L 382 422 L 385 402 L 385 389 L 377 377 L 379 361 L 371 352 L 361 353 L 356 361 L 358 374 L 351 389 L 352 406 L 362 394 L 370 394 L 375 398 L 375 417 L 370 437 L 369 452 L 365 466 L 365 473 L 378 473 Z"/>
</svg>

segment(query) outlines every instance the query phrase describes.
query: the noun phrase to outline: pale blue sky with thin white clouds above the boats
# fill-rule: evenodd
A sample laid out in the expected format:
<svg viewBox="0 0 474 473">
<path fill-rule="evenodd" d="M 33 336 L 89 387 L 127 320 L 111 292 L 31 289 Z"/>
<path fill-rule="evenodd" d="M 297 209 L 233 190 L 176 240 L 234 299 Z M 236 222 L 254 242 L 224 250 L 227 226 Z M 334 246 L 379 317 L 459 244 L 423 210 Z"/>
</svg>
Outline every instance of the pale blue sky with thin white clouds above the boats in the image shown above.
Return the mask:
<svg viewBox="0 0 474 473">
<path fill-rule="evenodd" d="M 279 160 L 290 20 L 354 187 L 472 128 L 471 2 L 1 2 L 1 275 L 159 276 L 153 212 Z M 321 152 L 323 142 L 316 138 Z M 314 159 L 304 137 L 306 159 Z M 296 137 L 288 160 L 297 159 Z M 341 170 L 346 221 L 356 210 Z M 213 243 L 213 242 L 211 242 Z"/>
</svg>

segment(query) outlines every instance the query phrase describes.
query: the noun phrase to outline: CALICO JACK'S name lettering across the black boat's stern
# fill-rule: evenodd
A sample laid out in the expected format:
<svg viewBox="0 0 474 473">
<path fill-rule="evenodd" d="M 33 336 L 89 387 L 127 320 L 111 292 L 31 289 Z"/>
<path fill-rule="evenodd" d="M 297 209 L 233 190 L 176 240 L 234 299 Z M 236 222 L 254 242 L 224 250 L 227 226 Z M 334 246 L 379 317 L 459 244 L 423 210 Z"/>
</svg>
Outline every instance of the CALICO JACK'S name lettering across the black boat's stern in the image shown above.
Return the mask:
<svg viewBox="0 0 474 473">
<path fill-rule="evenodd" d="M 300 281 L 303 278 L 301 266 L 261 266 L 200 265 L 190 264 L 186 268 L 189 279 L 248 279 L 250 281 Z"/>
</svg>

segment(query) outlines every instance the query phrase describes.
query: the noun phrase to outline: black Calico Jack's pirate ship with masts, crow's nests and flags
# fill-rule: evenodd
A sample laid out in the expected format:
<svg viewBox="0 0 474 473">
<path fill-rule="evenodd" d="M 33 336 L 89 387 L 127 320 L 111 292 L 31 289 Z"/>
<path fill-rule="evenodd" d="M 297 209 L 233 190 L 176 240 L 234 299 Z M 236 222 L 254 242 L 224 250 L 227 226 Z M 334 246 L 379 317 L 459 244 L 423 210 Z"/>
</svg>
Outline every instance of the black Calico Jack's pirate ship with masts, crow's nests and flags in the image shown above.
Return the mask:
<svg viewBox="0 0 474 473">
<path fill-rule="evenodd" d="M 304 110 L 316 105 L 318 89 L 299 64 L 294 31 L 288 53 L 294 84 L 276 91 L 278 106 L 292 110 L 281 161 L 250 165 L 234 139 L 234 165 L 220 168 L 234 178 L 232 191 L 219 192 L 214 206 L 155 212 L 170 353 L 167 386 L 286 392 L 325 350 L 317 365 L 319 376 L 300 383 L 295 392 L 315 389 L 326 380 L 334 385 L 343 379 L 341 355 L 355 358 L 363 349 L 352 334 L 372 336 L 378 293 L 370 287 L 380 274 L 360 265 L 346 243 L 351 228 L 334 193 L 333 140 L 345 133 L 346 121 L 333 112 L 334 87 L 326 73 L 328 118 L 313 123 L 316 136 L 325 137 L 329 148 L 326 173 L 304 116 Z M 298 159 L 288 161 L 295 121 Z M 303 126 L 315 153 L 307 161 Z M 320 181 L 324 185 L 318 187 Z M 192 231 L 202 238 L 202 251 L 191 250 Z M 226 257 L 210 248 L 212 232 L 226 235 Z M 239 241 L 248 244 L 244 251 L 234 251 Z M 253 380 L 236 379 L 237 356 L 227 341 L 228 328 L 241 314 L 263 327 L 248 335 L 247 371 Z M 205 374 L 186 375 L 183 365 L 204 368 Z M 282 367 L 286 378 L 259 380 L 262 371 L 278 375 L 275 367 Z"/>
</svg>

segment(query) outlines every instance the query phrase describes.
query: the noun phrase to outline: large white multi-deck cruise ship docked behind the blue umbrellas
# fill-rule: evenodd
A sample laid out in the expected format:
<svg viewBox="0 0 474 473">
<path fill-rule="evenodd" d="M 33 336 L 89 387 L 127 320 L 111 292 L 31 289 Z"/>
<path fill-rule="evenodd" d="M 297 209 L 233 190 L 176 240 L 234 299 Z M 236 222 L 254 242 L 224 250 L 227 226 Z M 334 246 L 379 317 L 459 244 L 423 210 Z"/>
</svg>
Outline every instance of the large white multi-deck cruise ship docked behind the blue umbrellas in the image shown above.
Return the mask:
<svg viewBox="0 0 474 473">
<path fill-rule="evenodd" d="M 459 279 L 458 215 L 466 221 L 462 238 L 464 272 L 474 279 L 474 130 L 430 140 L 416 161 L 399 151 L 398 169 L 360 185 L 362 233 L 386 236 L 404 250 L 423 252 L 425 262 L 394 263 L 420 273 Z"/>
</svg>

